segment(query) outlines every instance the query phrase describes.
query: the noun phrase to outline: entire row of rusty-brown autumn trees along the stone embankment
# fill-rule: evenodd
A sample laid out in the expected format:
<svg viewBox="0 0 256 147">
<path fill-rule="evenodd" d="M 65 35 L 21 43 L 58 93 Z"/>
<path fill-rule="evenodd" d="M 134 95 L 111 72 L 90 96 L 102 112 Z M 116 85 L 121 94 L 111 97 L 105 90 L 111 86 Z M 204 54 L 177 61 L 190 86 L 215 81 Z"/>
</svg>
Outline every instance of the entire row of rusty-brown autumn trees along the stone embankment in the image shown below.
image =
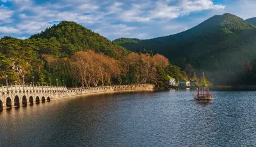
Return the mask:
<svg viewBox="0 0 256 147">
<path fill-rule="evenodd" d="M 76 52 L 70 58 L 72 77 L 86 87 L 111 85 L 112 81 L 118 84 L 157 85 L 159 81 L 157 69 L 163 68 L 163 76 L 166 76 L 169 65 L 168 59 L 160 54 L 150 56 L 135 52 L 116 60 L 93 50 L 87 50 Z M 163 82 L 166 81 L 163 79 Z"/>
</svg>

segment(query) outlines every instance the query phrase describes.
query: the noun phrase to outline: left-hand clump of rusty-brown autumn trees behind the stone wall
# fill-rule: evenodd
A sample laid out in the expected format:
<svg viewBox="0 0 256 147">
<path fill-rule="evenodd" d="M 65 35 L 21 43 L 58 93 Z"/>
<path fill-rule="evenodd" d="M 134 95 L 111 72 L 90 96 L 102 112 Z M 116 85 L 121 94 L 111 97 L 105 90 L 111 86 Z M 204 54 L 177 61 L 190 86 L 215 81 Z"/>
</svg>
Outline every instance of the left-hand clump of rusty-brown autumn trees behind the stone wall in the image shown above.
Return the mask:
<svg viewBox="0 0 256 147">
<path fill-rule="evenodd" d="M 111 77 L 120 75 L 120 68 L 115 59 L 93 50 L 76 52 L 70 58 L 72 77 L 82 86 L 111 84 Z"/>
</svg>

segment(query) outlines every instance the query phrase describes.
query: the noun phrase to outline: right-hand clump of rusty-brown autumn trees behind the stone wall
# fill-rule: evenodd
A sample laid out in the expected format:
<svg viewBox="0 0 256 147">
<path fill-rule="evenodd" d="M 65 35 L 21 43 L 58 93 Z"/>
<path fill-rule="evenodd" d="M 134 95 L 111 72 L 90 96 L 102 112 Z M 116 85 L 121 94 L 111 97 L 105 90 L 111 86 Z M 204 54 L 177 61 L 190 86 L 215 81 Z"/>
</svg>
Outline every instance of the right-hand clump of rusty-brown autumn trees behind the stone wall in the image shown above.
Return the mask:
<svg viewBox="0 0 256 147">
<path fill-rule="evenodd" d="M 157 66 L 169 65 L 167 58 L 160 54 L 150 56 L 132 52 L 120 59 L 122 78 L 125 84 L 157 83 Z"/>
</svg>

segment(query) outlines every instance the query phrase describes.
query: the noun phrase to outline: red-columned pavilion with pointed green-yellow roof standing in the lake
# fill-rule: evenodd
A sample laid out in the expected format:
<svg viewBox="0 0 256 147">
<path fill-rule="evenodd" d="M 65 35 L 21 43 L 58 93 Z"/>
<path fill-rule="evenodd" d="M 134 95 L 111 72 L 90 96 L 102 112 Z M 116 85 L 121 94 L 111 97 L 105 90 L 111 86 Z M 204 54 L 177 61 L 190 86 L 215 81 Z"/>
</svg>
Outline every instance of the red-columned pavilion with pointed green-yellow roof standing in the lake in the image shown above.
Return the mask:
<svg viewBox="0 0 256 147">
<path fill-rule="evenodd" d="M 212 100 L 212 94 L 209 93 L 209 88 L 212 86 L 212 82 L 207 81 L 204 72 L 195 86 L 197 88 L 197 93 L 194 94 L 194 100 Z"/>
</svg>

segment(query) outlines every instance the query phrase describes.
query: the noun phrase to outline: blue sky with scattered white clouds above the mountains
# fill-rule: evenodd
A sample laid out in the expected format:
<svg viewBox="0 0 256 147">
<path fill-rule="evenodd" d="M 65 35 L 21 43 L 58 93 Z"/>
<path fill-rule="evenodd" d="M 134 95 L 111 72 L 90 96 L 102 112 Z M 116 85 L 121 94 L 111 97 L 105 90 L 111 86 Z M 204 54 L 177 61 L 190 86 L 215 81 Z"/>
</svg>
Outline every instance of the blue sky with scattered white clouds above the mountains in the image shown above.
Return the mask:
<svg viewBox="0 0 256 147">
<path fill-rule="evenodd" d="M 0 38 L 20 39 L 63 20 L 109 40 L 149 39 L 194 27 L 213 15 L 256 17 L 256 0 L 0 0 Z"/>
</svg>

